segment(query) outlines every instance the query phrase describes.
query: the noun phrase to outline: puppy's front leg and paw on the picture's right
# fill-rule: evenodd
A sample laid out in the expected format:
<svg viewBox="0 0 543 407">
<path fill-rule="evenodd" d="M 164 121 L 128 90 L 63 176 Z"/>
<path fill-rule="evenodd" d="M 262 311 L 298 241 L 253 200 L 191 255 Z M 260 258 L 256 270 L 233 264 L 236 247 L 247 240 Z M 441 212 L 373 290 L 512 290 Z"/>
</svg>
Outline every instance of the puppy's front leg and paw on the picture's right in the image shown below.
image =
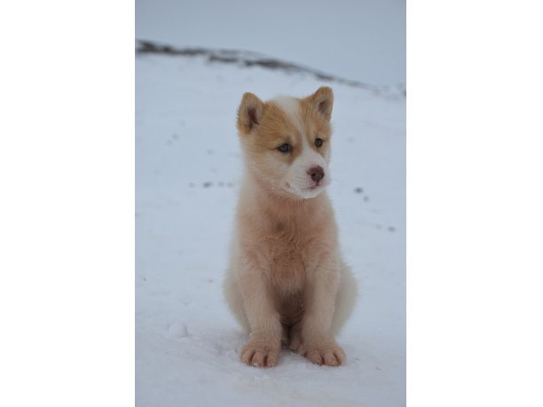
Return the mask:
<svg viewBox="0 0 543 407">
<path fill-rule="evenodd" d="M 339 278 L 338 268 L 330 262 L 312 273 L 305 289 L 302 340 L 305 356 L 314 364 L 339 366 L 345 363 L 345 353 L 331 332 Z"/>
</svg>

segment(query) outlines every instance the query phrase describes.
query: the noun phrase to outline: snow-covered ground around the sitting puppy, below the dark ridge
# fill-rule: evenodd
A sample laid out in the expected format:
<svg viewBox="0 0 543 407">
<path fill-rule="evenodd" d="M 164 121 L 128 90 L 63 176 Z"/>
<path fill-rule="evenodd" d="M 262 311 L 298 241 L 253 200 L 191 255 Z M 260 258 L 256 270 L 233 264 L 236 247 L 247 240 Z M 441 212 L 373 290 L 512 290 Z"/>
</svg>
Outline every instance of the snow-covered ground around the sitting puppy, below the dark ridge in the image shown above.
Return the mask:
<svg viewBox="0 0 543 407">
<path fill-rule="evenodd" d="M 405 405 L 405 98 L 309 75 L 136 59 L 136 398 L 138 406 Z M 320 367 L 284 350 L 266 370 L 222 279 L 242 162 L 235 112 L 261 98 L 334 88 L 328 193 L 358 305 L 338 338 L 348 362 Z"/>
</svg>

